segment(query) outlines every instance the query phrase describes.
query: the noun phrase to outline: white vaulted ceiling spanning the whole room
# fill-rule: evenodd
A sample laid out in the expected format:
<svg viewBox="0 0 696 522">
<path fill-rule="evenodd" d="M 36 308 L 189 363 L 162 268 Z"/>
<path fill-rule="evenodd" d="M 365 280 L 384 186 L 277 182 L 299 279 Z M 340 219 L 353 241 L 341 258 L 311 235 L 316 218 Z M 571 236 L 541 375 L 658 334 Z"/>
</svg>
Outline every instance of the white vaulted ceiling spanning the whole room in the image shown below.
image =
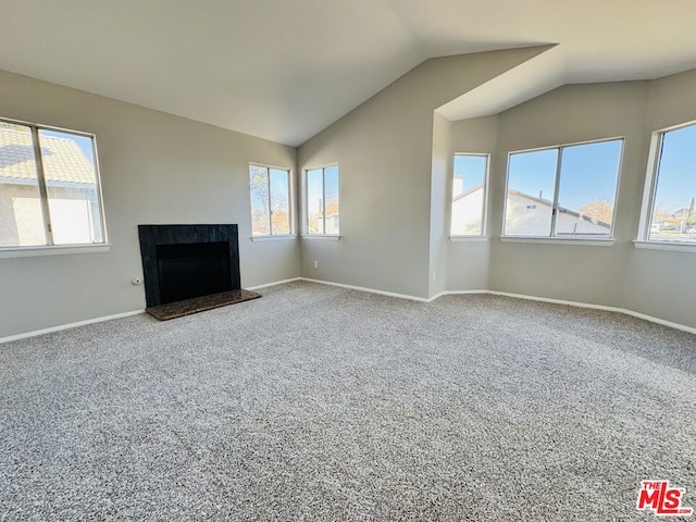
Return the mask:
<svg viewBox="0 0 696 522">
<path fill-rule="evenodd" d="M 0 0 L 0 69 L 300 145 L 427 58 L 558 44 L 443 108 L 696 67 L 694 0 Z"/>
</svg>

